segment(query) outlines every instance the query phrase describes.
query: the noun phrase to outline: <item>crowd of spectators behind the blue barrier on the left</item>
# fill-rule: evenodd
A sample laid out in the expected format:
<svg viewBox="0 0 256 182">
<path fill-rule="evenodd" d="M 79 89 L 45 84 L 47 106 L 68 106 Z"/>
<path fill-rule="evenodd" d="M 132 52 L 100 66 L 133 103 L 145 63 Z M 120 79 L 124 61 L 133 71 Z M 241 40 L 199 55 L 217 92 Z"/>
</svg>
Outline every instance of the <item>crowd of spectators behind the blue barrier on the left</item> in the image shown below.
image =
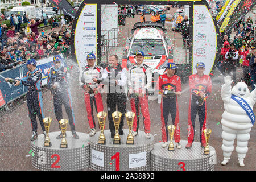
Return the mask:
<svg viewBox="0 0 256 182">
<path fill-rule="evenodd" d="M 31 58 L 38 60 L 56 53 L 69 56 L 71 27 L 61 23 L 59 31 L 51 28 L 39 33 L 38 26 L 41 23 L 43 19 L 38 22 L 31 19 L 26 28 L 18 31 L 14 25 L 10 28 L 6 24 L 0 25 L 0 72 L 24 64 Z"/>
</svg>

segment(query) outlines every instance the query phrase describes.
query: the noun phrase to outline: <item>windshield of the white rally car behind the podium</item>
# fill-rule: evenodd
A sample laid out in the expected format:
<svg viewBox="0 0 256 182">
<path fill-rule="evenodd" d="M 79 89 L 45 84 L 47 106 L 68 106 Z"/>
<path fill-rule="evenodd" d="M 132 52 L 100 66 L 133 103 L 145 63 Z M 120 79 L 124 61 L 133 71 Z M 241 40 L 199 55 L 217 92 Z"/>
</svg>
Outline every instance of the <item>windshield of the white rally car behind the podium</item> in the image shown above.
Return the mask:
<svg viewBox="0 0 256 182">
<path fill-rule="evenodd" d="M 161 39 L 139 39 L 134 40 L 131 46 L 130 55 L 135 55 L 137 51 L 143 51 L 144 55 L 165 55 L 163 40 Z"/>
</svg>

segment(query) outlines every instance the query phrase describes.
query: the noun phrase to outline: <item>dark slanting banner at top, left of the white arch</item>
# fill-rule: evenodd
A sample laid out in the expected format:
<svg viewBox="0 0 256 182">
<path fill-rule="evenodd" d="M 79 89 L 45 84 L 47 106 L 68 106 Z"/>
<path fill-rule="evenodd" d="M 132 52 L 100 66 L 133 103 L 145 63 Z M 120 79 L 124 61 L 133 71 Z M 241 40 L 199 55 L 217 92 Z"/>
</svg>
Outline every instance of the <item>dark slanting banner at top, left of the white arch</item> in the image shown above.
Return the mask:
<svg viewBox="0 0 256 182">
<path fill-rule="evenodd" d="M 67 0 L 49 0 L 51 1 L 55 6 L 59 7 L 64 15 L 69 15 L 71 18 L 75 18 L 76 10 L 73 9 L 71 4 Z"/>
</svg>

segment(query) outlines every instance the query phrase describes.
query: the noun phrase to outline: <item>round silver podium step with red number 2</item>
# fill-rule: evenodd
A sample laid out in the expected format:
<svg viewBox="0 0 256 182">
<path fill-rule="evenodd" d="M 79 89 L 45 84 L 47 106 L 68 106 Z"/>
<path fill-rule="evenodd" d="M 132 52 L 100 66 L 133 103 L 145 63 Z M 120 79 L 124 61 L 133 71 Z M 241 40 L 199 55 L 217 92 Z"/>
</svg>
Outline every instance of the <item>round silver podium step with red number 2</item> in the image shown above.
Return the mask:
<svg viewBox="0 0 256 182">
<path fill-rule="evenodd" d="M 44 135 L 31 142 L 32 166 L 40 170 L 81 170 L 89 168 L 89 135 L 77 132 L 79 139 L 67 131 L 68 148 L 60 148 L 61 139 L 56 139 L 60 131 L 49 133 L 51 147 L 44 147 Z"/>
</svg>

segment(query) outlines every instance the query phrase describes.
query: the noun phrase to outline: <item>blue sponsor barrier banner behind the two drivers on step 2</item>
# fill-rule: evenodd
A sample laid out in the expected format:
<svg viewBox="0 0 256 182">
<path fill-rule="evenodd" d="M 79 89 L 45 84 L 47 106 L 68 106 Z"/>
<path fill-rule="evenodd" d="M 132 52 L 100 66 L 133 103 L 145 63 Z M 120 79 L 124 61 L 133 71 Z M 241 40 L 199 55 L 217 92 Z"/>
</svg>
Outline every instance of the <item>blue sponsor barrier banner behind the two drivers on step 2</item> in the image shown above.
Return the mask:
<svg viewBox="0 0 256 182">
<path fill-rule="evenodd" d="M 60 55 L 63 57 L 62 55 Z M 42 77 L 42 86 L 47 84 L 47 75 L 48 70 L 53 67 L 52 65 L 53 56 L 48 57 L 46 59 L 40 59 L 37 61 L 36 67 L 43 73 Z M 65 65 L 65 64 L 64 64 Z M 8 104 L 9 102 L 19 98 L 27 93 L 27 86 L 19 85 L 14 86 L 9 82 L 5 82 L 5 78 L 14 78 L 15 80 L 20 80 L 20 78 L 27 75 L 28 69 L 26 64 L 19 65 L 15 69 L 8 69 L 0 73 L 0 90 L 2 92 L 3 99 L 5 103 Z"/>
</svg>

